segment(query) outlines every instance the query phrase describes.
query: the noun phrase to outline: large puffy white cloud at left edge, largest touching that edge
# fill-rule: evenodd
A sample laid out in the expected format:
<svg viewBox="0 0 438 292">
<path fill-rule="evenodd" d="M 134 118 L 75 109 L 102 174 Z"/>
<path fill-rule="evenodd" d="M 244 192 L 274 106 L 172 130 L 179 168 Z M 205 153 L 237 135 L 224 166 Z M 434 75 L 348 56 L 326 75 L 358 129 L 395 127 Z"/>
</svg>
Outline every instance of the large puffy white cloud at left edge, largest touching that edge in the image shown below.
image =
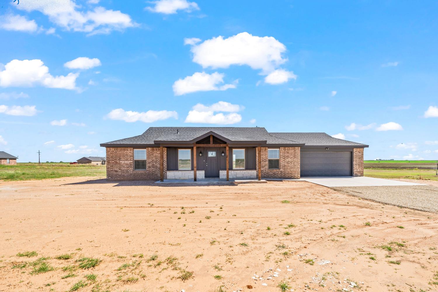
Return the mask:
<svg viewBox="0 0 438 292">
<path fill-rule="evenodd" d="M 76 78 L 79 73 L 53 77 L 49 68 L 41 60 L 12 60 L 0 71 L 0 86 L 34 86 L 47 88 L 76 89 Z"/>
</svg>

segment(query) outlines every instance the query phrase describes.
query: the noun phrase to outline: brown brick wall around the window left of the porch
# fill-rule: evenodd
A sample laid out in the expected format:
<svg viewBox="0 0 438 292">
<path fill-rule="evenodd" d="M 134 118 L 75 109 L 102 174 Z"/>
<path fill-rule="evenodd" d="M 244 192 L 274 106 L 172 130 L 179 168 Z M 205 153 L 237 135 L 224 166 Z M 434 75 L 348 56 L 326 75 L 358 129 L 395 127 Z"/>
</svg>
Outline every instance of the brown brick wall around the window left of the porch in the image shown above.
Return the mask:
<svg viewBox="0 0 438 292">
<path fill-rule="evenodd" d="M 166 178 L 167 151 L 163 148 L 163 172 Z M 160 179 L 160 148 L 146 148 L 146 170 L 134 170 L 134 148 L 106 148 L 106 179 L 108 180 L 148 180 Z"/>
</svg>

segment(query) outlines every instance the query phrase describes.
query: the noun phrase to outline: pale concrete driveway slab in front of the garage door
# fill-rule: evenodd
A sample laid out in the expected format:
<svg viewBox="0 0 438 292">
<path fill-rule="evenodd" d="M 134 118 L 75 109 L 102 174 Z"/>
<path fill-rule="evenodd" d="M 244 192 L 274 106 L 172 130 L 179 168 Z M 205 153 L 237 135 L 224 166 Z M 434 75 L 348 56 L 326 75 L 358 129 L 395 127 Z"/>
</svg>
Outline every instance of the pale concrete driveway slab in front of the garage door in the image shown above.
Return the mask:
<svg viewBox="0 0 438 292">
<path fill-rule="evenodd" d="M 408 183 L 392 179 L 378 179 L 367 176 L 339 176 L 339 177 L 303 177 L 309 183 L 316 183 L 321 186 L 420 186 L 422 183 Z"/>
</svg>

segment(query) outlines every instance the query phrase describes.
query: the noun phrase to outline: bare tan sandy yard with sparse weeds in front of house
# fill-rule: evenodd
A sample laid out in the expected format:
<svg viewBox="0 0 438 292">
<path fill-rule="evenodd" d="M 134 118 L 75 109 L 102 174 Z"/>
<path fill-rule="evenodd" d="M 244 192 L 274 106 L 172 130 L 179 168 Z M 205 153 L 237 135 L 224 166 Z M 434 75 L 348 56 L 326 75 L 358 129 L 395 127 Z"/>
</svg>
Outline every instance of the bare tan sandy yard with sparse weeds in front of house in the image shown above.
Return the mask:
<svg viewBox="0 0 438 292">
<path fill-rule="evenodd" d="M 68 291 L 79 282 L 78 291 L 95 292 L 273 292 L 281 281 L 287 291 L 438 289 L 435 213 L 297 181 L 89 179 L 0 183 L 0 291 Z M 17 256 L 26 251 L 38 256 Z M 64 253 L 72 258 L 56 259 Z M 82 257 L 102 261 L 82 269 Z M 42 263 L 54 270 L 38 274 Z M 193 272 L 185 281 L 184 271 Z"/>
</svg>

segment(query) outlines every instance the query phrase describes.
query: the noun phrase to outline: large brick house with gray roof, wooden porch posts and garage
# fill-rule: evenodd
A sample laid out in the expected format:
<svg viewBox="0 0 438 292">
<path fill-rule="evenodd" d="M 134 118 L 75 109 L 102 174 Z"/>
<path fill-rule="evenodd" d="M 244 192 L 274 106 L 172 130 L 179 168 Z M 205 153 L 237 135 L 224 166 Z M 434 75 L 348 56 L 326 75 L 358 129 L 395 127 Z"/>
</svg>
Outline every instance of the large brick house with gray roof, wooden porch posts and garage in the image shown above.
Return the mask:
<svg viewBox="0 0 438 292">
<path fill-rule="evenodd" d="M 368 145 L 263 127 L 150 127 L 102 143 L 108 180 L 363 176 Z"/>
</svg>

